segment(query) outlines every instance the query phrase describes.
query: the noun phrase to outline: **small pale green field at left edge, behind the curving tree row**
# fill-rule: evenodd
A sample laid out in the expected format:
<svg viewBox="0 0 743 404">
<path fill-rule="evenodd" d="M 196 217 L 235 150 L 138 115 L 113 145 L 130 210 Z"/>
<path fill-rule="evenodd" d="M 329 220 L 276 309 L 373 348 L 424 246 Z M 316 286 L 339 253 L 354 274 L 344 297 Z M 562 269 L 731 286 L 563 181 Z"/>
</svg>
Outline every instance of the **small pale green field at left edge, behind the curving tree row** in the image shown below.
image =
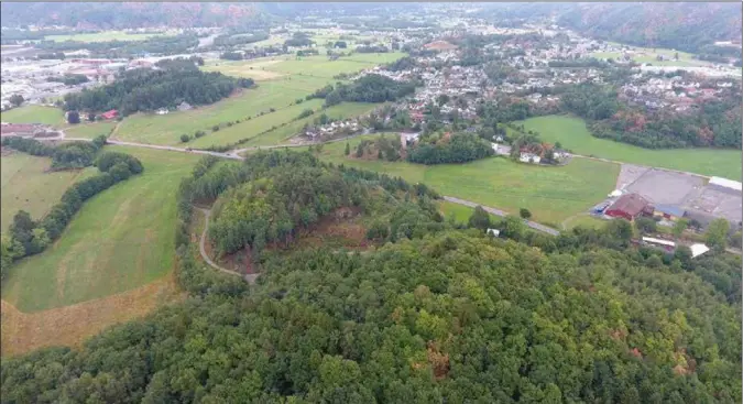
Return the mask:
<svg viewBox="0 0 743 404">
<path fill-rule="evenodd" d="M 50 159 L 23 153 L 2 156 L 0 164 L 0 222 L 3 232 L 20 209 L 40 219 L 59 201 L 72 184 L 96 173 L 96 168 L 45 173 L 52 164 Z"/>
</svg>

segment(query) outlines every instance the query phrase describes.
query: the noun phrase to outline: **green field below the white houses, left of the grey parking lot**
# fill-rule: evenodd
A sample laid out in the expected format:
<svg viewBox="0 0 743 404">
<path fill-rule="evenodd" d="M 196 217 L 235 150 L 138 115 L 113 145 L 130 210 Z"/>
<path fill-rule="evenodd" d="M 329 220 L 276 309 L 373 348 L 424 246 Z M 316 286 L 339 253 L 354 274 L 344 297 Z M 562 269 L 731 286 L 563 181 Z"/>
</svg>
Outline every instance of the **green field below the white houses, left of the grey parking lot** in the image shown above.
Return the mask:
<svg viewBox="0 0 743 404">
<path fill-rule="evenodd" d="M 351 149 L 362 140 L 349 141 Z M 533 219 L 558 226 L 562 220 L 590 208 L 614 189 L 620 166 L 576 159 L 562 167 L 521 164 L 490 157 L 467 164 L 426 166 L 407 162 L 359 160 L 343 155 L 346 142 L 326 144 L 320 159 L 425 183 L 442 195 L 517 214 L 527 208 Z"/>
</svg>

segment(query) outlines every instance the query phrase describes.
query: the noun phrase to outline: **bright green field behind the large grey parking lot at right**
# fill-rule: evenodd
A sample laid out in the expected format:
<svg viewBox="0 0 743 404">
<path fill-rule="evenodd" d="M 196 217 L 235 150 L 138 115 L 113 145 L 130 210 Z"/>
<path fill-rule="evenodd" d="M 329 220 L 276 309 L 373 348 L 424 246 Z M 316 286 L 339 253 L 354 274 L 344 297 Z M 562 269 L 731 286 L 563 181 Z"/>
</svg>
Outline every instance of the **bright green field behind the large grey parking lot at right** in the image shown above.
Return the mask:
<svg viewBox="0 0 743 404">
<path fill-rule="evenodd" d="M 560 142 L 573 153 L 593 155 L 623 163 L 679 170 L 701 175 L 740 181 L 741 151 L 719 149 L 649 150 L 591 135 L 586 122 L 569 116 L 547 116 L 515 122 L 539 132 L 542 139 Z M 573 159 L 573 163 L 580 159 Z M 570 164 L 573 164 L 570 163 Z"/>
</svg>

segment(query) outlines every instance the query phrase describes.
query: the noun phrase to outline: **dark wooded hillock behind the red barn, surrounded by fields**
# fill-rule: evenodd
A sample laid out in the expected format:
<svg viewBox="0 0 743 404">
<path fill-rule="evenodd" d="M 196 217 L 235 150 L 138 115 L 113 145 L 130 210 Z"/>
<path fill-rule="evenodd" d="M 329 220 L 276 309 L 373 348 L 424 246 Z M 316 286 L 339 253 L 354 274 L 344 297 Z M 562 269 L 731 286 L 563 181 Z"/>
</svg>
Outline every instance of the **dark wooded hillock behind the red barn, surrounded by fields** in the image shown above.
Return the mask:
<svg viewBox="0 0 743 404">
<path fill-rule="evenodd" d="M 234 79 L 220 73 L 204 73 L 198 61 L 163 61 L 161 69 L 138 68 L 121 74 L 112 84 L 65 95 L 66 110 L 119 110 L 122 116 L 159 108 L 175 108 L 181 102 L 209 105 L 230 96 L 236 89 L 252 87 L 250 78 Z"/>
</svg>

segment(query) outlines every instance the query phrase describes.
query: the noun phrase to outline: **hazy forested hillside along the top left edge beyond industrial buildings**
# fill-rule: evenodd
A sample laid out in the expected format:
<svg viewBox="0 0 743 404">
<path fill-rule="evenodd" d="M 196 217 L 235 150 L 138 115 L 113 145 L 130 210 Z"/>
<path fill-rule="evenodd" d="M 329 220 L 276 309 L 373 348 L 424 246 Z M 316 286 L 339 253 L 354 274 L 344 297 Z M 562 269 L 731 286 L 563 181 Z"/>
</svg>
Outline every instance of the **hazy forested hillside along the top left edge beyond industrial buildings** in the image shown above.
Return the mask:
<svg viewBox="0 0 743 404">
<path fill-rule="evenodd" d="M 3 1 L 2 26 L 64 25 L 79 29 L 197 28 L 261 24 L 270 18 L 255 3 L 239 2 L 30 2 Z"/>
</svg>

